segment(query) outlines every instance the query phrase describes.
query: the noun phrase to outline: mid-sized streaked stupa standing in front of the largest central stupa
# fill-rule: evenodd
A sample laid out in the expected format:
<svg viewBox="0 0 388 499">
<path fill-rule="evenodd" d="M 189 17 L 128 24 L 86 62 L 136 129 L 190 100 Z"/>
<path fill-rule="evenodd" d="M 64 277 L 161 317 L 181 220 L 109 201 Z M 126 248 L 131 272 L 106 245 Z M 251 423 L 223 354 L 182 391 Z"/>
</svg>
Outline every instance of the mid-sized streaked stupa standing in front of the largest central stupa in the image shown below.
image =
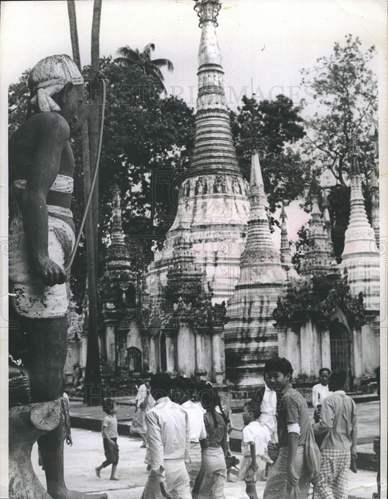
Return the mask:
<svg viewBox="0 0 388 499">
<path fill-rule="evenodd" d="M 226 377 L 247 387 L 262 381 L 265 361 L 278 352 L 273 311 L 287 281 L 280 251 L 271 237 L 257 152 L 252 155 L 250 186 L 247 242 L 241 255 L 240 280 L 228 306 L 230 320 L 225 325 Z"/>
</svg>

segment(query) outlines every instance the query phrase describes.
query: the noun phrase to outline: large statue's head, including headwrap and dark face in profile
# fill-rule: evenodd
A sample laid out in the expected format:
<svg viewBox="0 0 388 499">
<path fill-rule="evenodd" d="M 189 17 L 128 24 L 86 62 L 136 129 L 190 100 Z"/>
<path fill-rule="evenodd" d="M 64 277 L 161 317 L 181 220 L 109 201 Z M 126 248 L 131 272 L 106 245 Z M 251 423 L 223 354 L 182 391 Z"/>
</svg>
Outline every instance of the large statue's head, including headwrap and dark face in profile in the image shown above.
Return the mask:
<svg viewBox="0 0 388 499">
<path fill-rule="evenodd" d="M 51 55 L 31 69 L 28 78 L 30 111 L 56 111 L 72 127 L 82 104 L 83 77 L 75 62 L 66 54 Z"/>
</svg>

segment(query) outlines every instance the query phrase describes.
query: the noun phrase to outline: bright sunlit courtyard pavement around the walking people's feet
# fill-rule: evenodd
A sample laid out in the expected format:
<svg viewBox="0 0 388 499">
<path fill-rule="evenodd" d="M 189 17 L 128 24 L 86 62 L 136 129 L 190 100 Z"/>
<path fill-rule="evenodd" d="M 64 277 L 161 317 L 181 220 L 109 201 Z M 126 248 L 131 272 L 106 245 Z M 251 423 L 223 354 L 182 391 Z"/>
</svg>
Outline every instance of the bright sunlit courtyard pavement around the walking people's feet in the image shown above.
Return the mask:
<svg viewBox="0 0 388 499">
<path fill-rule="evenodd" d="M 64 451 L 68 488 L 89 493 L 106 492 L 109 499 L 140 499 L 148 474 L 144 464 L 145 449 L 140 448 L 139 440 L 119 437 L 120 460 L 117 471 L 120 481 L 111 482 L 110 468 L 101 471 L 101 479 L 98 479 L 94 472 L 94 468 L 104 461 L 101 434 L 77 428 L 73 428 L 71 433 L 73 446 L 65 445 Z M 239 457 L 237 454 L 236 456 Z M 44 472 L 37 463 L 36 444 L 32 450 L 32 463 L 38 478 L 45 486 Z M 350 498 L 371 499 L 373 492 L 377 491 L 374 472 L 360 470 L 357 475 L 350 472 L 349 478 Z M 258 482 L 259 498 L 262 497 L 264 485 L 264 482 Z M 225 497 L 247 498 L 244 483 L 226 483 Z"/>
</svg>

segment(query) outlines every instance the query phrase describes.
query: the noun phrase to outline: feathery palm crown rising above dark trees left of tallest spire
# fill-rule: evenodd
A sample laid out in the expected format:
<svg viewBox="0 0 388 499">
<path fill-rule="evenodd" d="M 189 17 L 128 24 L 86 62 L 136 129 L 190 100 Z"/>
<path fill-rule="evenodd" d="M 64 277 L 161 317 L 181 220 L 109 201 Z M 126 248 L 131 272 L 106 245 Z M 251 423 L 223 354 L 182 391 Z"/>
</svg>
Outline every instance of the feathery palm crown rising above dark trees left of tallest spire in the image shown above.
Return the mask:
<svg viewBox="0 0 388 499">
<path fill-rule="evenodd" d="M 151 60 L 151 51 L 153 50 L 155 50 L 155 45 L 153 43 L 148 43 L 148 45 L 143 48 L 142 52 L 140 52 L 138 48 L 133 50 L 129 45 L 126 45 L 117 50 L 121 57 L 117 57 L 115 60 L 124 66 L 136 66 L 147 76 L 153 76 L 167 94 L 167 90 L 163 83 L 164 76 L 160 68 L 167 66 L 168 71 L 173 71 L 174 65 L 169 59 Z"/>
</svg>

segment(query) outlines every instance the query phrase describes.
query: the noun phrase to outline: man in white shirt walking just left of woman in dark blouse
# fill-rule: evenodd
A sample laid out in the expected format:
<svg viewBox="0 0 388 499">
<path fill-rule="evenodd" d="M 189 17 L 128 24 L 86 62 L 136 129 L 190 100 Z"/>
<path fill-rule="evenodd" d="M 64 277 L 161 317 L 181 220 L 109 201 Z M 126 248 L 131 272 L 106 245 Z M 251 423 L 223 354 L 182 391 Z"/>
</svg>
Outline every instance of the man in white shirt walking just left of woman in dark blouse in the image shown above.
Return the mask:
<svg viewBox="0 0 388 499">
<path fill-rule="evenodd" d="M 187 413 L 190 424 L 190 463 L 187 471 L 190 477 L 190 488 L 194 486 L 195 479 L 201 469 L 202 455 L 200 440 L 206 439 L 205 422 L 202 409 L 192 401 L 195 397 L 195 383 L 189 378 L 178 376 L 173 382 L 173 400 L 180 404 Z"/>
</svg>

